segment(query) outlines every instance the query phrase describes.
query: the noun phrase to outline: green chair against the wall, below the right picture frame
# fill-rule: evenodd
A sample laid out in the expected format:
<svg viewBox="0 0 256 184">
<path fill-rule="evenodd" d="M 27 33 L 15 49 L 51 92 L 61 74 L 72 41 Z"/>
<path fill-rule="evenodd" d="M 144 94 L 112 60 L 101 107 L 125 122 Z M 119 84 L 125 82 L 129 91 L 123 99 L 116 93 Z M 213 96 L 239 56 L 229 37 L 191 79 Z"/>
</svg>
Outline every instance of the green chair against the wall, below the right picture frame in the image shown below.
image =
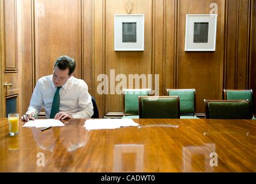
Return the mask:
<svg viewBox="0 0 256 184">
<path fill-rule="evenodd" d="M 195 89 L 166 89 L 167 95 L 179 96 L 180 114 L 195 116 Z"/>
</svg>

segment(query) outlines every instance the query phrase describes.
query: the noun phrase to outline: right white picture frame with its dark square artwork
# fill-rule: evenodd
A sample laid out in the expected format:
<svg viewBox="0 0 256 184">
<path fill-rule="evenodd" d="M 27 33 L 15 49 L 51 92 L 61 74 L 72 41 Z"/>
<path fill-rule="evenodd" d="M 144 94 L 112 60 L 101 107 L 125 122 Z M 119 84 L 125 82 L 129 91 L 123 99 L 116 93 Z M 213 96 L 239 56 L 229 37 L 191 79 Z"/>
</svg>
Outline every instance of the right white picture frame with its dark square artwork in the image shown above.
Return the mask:
<svg viewBox="0 0 256 184">
<path fill-rule="evenodd" d="M 187 14 L 185 51 L 215 51 L 216 33 L 217 14 Z"/>
</svg>

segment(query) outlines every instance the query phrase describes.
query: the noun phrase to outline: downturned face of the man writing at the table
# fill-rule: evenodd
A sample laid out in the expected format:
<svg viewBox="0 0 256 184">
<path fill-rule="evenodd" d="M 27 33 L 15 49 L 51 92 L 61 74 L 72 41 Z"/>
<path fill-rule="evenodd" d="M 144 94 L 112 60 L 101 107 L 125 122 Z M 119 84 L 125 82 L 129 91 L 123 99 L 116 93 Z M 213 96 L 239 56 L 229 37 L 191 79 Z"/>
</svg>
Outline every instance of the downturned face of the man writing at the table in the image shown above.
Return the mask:
<svg viewBox="0 0 256 184">
<path fill-rule="evenodd" d="M 52 74 L 52 82 L 56 87 L 63 86 L 71 76 L 72 74 L 69 75 L 69 68 L 61 70 L 56 66 Z"/>
</svg>

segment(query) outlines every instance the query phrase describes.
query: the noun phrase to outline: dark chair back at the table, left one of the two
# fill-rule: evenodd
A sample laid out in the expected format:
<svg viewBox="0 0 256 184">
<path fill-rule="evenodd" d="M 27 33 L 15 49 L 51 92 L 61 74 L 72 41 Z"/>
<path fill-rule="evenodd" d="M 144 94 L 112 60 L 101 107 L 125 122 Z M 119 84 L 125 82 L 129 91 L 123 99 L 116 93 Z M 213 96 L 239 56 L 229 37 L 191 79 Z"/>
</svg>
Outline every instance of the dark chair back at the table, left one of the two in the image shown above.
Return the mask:
<svg viewBox="0 0 256 184">
<path fill-rule="evenodd" d="M 180 118 L 178 96 L 140 96 L 140 118 Z"/>
</svg>

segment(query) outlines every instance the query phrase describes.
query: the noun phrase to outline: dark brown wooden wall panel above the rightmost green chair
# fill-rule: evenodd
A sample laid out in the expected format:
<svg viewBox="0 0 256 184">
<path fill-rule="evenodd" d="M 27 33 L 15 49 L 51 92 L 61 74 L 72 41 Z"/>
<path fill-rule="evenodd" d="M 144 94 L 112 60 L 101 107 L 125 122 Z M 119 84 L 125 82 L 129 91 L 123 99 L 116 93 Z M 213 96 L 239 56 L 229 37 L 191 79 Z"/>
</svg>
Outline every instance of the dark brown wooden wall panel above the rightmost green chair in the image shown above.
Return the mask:
<svg viewBox="0 0 256 184">
<path fill-rule="evenodd" d="M 250 9 L 250 1 L 228 1 L 226 89 L 249 87 Z"/>
</svg>

